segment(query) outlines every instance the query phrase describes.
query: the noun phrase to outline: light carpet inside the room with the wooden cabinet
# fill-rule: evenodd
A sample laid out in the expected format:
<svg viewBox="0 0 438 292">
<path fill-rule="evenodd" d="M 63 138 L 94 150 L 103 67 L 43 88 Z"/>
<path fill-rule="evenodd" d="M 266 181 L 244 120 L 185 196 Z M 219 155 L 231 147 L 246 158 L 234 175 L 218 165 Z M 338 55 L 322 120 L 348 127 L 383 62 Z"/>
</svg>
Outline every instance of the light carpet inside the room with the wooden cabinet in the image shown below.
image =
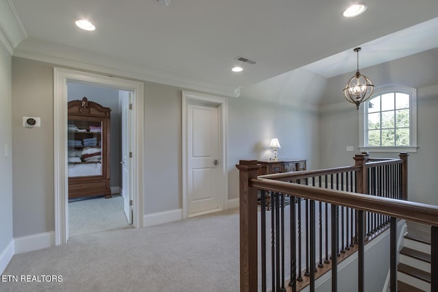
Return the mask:
<svg viewBox="0 0 438 292">
<path fill-rule="evenodd" d="M 105 230 L 131 228 L 123 211 L 123 197 L 93 198 L 68 203 L 68 234 L 70 237 Z"/>
</svg>

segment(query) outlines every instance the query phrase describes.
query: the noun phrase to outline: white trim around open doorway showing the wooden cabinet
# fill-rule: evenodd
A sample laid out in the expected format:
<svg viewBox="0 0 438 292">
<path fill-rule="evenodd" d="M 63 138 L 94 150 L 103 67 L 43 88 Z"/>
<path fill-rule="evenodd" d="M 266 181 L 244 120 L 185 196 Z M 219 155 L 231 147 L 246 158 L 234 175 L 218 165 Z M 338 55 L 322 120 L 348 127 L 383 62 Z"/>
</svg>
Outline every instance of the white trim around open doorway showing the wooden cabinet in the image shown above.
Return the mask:
<svg viewBox="0 0 438 292">
<path fill-rule="evenodd" d="M 144 84 L 89 72 L 53 68 L 53 157 L 55 245 L 68 240 L 67 81 L 133 92 L 133 226 L 143 226 Z"/>
</svg>

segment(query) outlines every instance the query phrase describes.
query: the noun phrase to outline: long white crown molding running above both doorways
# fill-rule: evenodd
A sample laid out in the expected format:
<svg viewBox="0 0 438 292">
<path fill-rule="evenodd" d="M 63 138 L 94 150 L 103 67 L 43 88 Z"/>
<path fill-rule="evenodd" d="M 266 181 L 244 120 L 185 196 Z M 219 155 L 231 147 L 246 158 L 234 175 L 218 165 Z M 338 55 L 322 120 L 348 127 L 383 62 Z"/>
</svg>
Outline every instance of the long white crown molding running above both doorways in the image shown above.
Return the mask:
<svg viewBox="0 0 438 292">
<path fill-rule="evenodd" d="M 23 57 L 40 62 L 56 64 L 57 66 L 66 66 L 92 72 L 101 72 L 105 75 L 125 77 L 141 81 L 150 81 L 164 85 L 171 85 L 177 88 L 196 90 L 200 92 L 209 92 L 211 94 L 220 94 L 229 97 L 240 96 L 240 86 L 233 84 L 220 83 L 198 77 L 183 75 L 179 72 L 170 72 L 159 68 L 148 66 L 139 66 L 137 64 L 128 64 L 126 62 L 115 61 L 109 57 L 93 58 L 90 52 L 81 52 L 79 54 L 61 56 L 44 55 L 35 51 L 14 50 L 14 57 Z M 53 51 L 53 48 L 49 51 Z M 55 52 L 55 51 L 53 51 Z M 56 51 L 59 55 L 59 51 Z M 79 61 L 77 55 L 81 55 L 83 61 Z M 72 60 L 76 59 L 76 60 Z M 94 64 L 91 64 L 93 61 Z M 105 65 L 104 65 L 105 64 Z"/>
</svg>

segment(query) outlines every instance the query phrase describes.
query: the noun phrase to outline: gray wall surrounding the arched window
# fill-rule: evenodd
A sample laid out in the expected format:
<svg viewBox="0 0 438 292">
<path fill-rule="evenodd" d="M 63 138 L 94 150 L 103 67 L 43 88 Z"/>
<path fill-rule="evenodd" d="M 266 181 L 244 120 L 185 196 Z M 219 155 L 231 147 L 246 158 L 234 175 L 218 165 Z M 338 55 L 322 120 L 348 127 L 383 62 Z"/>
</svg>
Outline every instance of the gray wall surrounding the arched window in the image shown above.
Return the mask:
<svg viewBox="0 0 438 292">
<path fill-rule="evenodd" d="M 328 80 L 320 111 L 320 166 L 351 165 L 359 153 L 359 112 L 342 96 L 342 88 L 352 74 Z M 409 156 L 409 200 L 438 205 L 438 49 L 418 53 L 385 64 L 361 69 L 374 85 L 400 84 L 417 88 L 416 153 Z M 355 152 L 346 152 L 355 146 Z M 372 153 L 373 157 L 397 157 L 391 153 Z"/>
</svg>

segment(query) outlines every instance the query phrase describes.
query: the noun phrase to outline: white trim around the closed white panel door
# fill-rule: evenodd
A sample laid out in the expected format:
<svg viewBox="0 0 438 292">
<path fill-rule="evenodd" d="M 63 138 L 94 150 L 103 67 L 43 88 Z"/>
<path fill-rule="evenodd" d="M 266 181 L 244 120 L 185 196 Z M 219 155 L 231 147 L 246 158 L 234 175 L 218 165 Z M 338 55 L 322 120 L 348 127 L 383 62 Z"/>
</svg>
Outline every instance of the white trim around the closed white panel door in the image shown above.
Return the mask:
<svg viewBox="0 0 438 292">
<path fill-rule="evenodd" d="M 188 192 L 188 108 L 191 103 L 201 103 L 205 105 L 215 105 L 219 109 L 220 117 L 220 159 L 222 163 L 222 183 L 223 194 L 222 194 L 222 207 L 224 210 L 228 209 L 228 99 L 220 96 L 212 96 L 207 94 L 200 94 L 196 92 L 182 92 L 182 153 L 183 158 L 183 219 L 188 217 L 188 202 L 187 202 L 187 192 Z M 199 214 L 201 215 L 201 214 Z"/>
</svg>

